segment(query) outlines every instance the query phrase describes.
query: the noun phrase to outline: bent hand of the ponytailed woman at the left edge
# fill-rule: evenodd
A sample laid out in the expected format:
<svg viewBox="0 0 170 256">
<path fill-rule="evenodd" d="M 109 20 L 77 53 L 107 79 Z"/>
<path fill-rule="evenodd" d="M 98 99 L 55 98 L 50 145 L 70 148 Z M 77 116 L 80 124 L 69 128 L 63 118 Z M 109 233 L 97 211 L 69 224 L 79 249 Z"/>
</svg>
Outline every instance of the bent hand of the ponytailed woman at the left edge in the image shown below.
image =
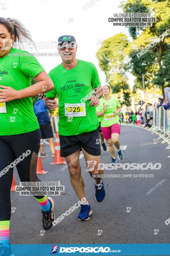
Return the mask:
<svg viewBox="0 0 170 256">
<path fill-rule="evenodd" d="M 1 88 L 3 88 L 3 89 L 1 89 Z M 17 99 L 17 96 L 18 96 L 17 90 L 14 90 L 10 86 L 0 85 L 0 103 L 15 100 L 15 99 Z M 1 99 L 3 99 L 3 100 L 1 100 Z"/>
</svg>

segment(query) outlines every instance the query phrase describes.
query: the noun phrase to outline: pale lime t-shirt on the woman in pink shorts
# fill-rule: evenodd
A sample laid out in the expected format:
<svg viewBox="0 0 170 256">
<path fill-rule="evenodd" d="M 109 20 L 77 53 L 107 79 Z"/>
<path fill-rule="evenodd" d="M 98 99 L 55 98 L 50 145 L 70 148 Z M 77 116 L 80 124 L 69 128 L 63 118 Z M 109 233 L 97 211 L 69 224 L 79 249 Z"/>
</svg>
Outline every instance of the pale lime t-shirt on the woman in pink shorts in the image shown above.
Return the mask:
<svg viewBox="0 0 170 256">
<path fill-rule="evenodd" d="M 101 117 L 101 127 L 109 127 L 114 124 L 120 125 L 119 116 L 113 117 L 113 113 L 117 111 L 117 108 L 121 107 L 119 100 L 115 97 L 111 97 L 109 100 L 100 99 L 100 104 L 96 107 L 96 111 L 102 112 L 104 110 L 103 103 L 107 105 L 107 110 Z"/>
</svg>

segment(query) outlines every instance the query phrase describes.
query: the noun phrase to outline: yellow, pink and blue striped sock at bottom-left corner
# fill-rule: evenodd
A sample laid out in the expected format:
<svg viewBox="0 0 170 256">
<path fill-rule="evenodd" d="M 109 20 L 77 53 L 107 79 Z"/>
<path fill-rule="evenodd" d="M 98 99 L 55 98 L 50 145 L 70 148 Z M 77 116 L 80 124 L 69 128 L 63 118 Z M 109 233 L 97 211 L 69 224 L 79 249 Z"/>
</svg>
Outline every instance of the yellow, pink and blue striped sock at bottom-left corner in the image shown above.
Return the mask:
<svg viewBox="0 0 170 256">
<path fill-rule="evenodd" d="M 0 243 L 9 248 L 10 221 L 0 221 Z"/>
</svg>

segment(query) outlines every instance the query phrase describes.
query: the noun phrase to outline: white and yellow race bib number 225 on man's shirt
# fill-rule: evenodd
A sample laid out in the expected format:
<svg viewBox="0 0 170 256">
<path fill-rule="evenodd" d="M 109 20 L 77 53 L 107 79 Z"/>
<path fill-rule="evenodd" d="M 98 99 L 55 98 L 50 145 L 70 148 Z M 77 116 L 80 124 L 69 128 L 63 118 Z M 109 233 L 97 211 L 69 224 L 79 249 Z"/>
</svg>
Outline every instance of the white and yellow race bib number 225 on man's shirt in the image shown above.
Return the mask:
<svg viewBox="0 0 170 256">
<path fill-rule="evenodd" d="M 85 103 L 70 104 L 65 103 L 65 116 L 86 116 Z"/>
</svg>

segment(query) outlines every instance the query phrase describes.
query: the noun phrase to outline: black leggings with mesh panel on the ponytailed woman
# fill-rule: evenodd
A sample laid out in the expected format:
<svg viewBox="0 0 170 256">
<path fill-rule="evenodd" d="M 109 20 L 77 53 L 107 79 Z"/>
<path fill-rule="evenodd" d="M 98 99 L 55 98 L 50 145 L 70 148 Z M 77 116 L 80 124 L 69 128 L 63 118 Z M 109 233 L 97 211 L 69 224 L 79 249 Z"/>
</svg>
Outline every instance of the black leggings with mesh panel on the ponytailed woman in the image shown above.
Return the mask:
<svg viewBox="0 0 170 256">
<path fill-rule="evenodd" d="M 0 221 L 8 221 L 11 217 L 10 189 L 14 168 L 9 168 L 7 172 L 3 169 L 20 156 L 20 159 L 23 159 L 23 153 L 26 151 L 31 152 L 16 165 L 19 178 L 21 182 L 40 181 L 36 176 L 40 139 L 39 129 L 23 134 L 0 136 Z M 1 175 L 2 173 L 4 174 Z M 43 197 L 36 196 L 39 199 Z"/>
</svg>

